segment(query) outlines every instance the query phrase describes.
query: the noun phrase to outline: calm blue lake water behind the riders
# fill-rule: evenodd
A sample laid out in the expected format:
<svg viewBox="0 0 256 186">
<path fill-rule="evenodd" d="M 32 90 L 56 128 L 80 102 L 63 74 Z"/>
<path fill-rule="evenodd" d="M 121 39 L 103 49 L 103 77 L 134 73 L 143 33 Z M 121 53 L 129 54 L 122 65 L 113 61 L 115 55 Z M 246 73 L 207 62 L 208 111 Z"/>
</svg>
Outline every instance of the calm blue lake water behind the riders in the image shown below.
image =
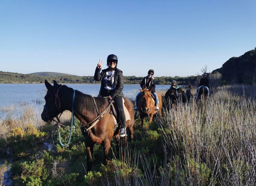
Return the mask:
<svg viewBox="0 0 256 186">
<path fill-rule="evenodd" d="M 64 84 L 63 84 L 64 85 Z M 67 84 L 82 93 L 97 96 L 100 84 Z M 123 93 L 135 100 L 140 85 L 124 85 Z M 156 85 L 156 90 L 167 90 L 170 85 Z M 44 84 L 0 84 L 0 117 L 8 113 L 8 107 L 20 108 L 22 105 L 44 105 L 46 87 Z"/>
</svg>

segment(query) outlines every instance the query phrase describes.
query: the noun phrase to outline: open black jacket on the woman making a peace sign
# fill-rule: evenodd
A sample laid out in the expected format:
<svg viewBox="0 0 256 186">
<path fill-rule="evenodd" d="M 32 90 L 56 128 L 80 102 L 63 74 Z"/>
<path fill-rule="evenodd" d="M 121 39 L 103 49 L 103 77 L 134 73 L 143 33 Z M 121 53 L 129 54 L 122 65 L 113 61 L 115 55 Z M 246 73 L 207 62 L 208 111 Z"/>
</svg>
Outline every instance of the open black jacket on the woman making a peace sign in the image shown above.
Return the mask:
<svg viewBox="0 0 256 186">
<path fill-rule="evenodd" d="M 99 95 L 101 95 L 101 93 L 104 92 L 104 84 L 103 84 L 103 80 L 102 77 L 104 77 L 104 75 L 106 74 L 106 72 L 108 71 L 109 68 L 103 69 L 100 73 L 101 68 L 96 67 L 95 69 L 95 73 L 94 73 L 94 80 L 95 81 L 100 81 L 101 80 L 101 86 L 100 86 L 100 92 Z M 114 76 L 114 90 L 110 92 L 110 96 L 112 98 L 115 98 L 117 96 L 124 96 L 123 94 L 123 89 L 124 89 L 124 76 L 123 76 L 123 72 L 116 68 L 115 69 L 115 76 Z"/>
</svg>

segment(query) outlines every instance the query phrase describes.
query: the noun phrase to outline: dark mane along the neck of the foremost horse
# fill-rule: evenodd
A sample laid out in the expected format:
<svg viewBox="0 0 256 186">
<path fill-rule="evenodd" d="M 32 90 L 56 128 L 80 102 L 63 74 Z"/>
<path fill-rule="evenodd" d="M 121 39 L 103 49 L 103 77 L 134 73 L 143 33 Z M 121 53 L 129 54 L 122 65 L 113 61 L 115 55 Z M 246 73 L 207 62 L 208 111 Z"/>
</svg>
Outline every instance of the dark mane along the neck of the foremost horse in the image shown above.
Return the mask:
<svg viewBox="0 0 256 186">
<path fill-rule="evenodd" d="M 67 88 L 68 88 L 68 91 L 65 91 L 64 94 L 65 96 L 70 97 L 72 99 L 73 89 L 69 87 Z M 105 109 L 107 107 L 108 105 L 107 98 L 94 97 L 94 99 L 99 112 L 101 112 L 102 110 L 101 108 Z M 93 97 L 91 95 L 81 93 L 78 90 L 75 91 L 74 109 L 77 110 L 77 112 L 84 114 L 86 116 L 98 115 Z"/>
</svg>

